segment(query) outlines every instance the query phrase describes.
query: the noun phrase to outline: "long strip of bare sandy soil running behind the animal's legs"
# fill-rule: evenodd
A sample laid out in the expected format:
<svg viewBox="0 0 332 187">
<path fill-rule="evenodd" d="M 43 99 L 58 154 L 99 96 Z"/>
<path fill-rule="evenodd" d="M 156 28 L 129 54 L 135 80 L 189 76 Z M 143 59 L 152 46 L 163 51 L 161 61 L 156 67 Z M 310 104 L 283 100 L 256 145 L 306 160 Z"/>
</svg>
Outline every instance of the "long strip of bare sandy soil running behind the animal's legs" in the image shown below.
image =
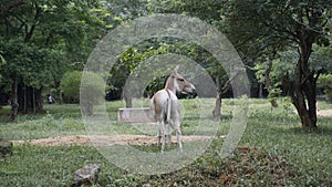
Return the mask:
<svg viewBox="0 0 332 187">
<path fill-rule="evenodd" d="M 174 137 L 174 136 L 173 136 Z M 212 138 L 211 136 L 183 136 L 183 142 L 204 141 Z M 172 138 L 176 143 L 176 138 Z M 89 146 L 112 146 L 112 145 L 153 145 L 157 143 L 155 136 L 146 135 L 72 135 L 49 137 L 30 141 L 12 141 L 13 145 L 30 144 L 40 146 L 60 146 L 60 145 L 89 145 Z"/>
</svg>

